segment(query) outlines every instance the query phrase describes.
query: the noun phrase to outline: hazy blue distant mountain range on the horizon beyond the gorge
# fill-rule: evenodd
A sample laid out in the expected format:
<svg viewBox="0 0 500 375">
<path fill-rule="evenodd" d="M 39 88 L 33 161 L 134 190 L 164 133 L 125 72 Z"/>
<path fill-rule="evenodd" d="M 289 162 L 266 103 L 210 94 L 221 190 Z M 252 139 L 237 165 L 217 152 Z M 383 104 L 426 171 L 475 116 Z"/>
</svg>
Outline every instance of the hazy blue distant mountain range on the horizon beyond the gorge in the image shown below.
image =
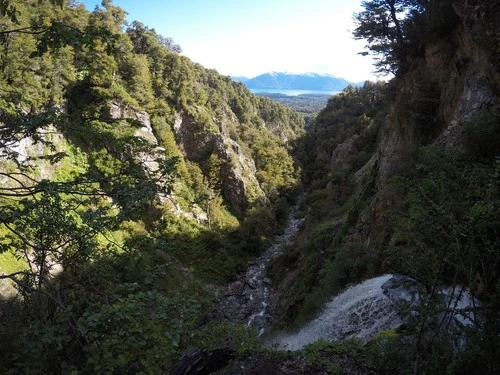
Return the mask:
<svg viewBox="0 0 500 375">
<path fill-rule="evenodd" d="M 318 73 L 265 73 L 255 78 L 232 77 L 234 81 L 243 82 L 249 89 L 283 89 L 283 90 L 314 90 L 341 91 L 352 84 L 344 78 L 330 74 Z"/>
</svg>

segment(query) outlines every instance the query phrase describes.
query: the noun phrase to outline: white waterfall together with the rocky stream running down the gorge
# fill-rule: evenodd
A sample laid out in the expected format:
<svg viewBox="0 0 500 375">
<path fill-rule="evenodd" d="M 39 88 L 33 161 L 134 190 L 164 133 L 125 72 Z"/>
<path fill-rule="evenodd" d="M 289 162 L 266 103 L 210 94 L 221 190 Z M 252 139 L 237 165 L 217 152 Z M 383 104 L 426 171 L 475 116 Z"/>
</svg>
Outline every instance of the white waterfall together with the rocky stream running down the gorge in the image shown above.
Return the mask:
<svg viewBox="0 0 500 375">
<path fill-rule="evenodd" d="M 266 278 L 266 266 L 271 259 L 282 254 L 297 233 L 300 219 L 294 217 L 295 206 L 288 218 L 285 232 L 275 239 L 247 272 L 231 283 L 219 298 L 217 317 L 256 328 L 261 336 L 271 325 L 272 304 L 270 281 Z M 419 290 L 420 289 L 420 290 Z M 359 338 L 368 340 L 378 332 L 395 329 L 404 323 L 400 316 L 400 304 L 410 310 L 421 300 L 422 288 L 410 277 L 382 275 L 347 288 L 327 303 L 319 316 L 296 333 L 275 334 L 267 339 L 271 348 L 298 350 L 317 340 L 342 340 Z M 441 288 L 437 291 L 445 307 L 444 317 L 448 325 L 470 324 L 473 307 L 477 302 L 463 288 Z M 450 314 L 446 310 L 453 309 Z M 415 311 L 415 314 L 418 314 Z M 441 314 L 441 315 L 442 315 Z"/>
</svg>

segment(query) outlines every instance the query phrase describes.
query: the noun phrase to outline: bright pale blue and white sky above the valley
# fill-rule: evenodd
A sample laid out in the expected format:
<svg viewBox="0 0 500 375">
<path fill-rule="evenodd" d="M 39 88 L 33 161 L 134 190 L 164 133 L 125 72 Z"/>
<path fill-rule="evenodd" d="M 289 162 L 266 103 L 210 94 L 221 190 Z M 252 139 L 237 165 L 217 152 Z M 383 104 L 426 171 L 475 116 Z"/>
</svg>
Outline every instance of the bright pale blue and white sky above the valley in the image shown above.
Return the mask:
<svg viewBox="0 0 500 375">
<path fill-rule="evenodd" d="M 82 0 L 93 10 L 100 0 Z M 253 78 L 267 72 L 376 79 L 366 44 L 354 40 L 361 0 L 114 0 L 127 21 L 171 37 L 206 68 Z"/>
</svg>

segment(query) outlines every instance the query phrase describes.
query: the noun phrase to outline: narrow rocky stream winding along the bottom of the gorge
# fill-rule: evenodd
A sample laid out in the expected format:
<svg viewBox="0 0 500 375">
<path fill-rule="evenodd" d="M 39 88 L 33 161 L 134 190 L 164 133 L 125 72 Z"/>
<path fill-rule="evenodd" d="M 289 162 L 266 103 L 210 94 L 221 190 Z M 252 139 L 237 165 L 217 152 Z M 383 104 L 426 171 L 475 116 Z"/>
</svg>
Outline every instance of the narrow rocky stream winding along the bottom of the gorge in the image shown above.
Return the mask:
<svg viewBox="0 0 500 375">
<path fill-rule="evenodd" d="M 271 325 L 272 316 L 271 282 L 266 277 L 266 266 L 269 261 L 282 254 L 297 234 L 303 220 L 295 218 L 299 204 L 300 199 L 290 210 L 284 233 L 275 238 L 273 245 L 248 267 L 244 275 L 228 285 L 217 306 L 218 315 L 231 322 L 256 328 L 259 336 Z"/>
</svg>

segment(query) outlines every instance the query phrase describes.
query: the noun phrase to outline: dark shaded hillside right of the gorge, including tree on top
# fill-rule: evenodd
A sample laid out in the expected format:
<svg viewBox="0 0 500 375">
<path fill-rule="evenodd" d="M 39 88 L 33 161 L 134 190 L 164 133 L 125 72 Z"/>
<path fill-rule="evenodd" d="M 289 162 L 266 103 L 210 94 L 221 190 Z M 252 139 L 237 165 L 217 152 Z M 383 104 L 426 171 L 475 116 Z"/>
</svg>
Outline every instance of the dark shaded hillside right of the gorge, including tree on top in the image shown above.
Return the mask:
<svg viewBox="0 0 500 375">
<path fill-rule="evenodd" d="M 354 35 L 395 77 L 332 97 L 295 144 L 308 195 L 297 243 L 269 270 L 278 322 L 301 326 L 351 283 L 401 273 L 430 296 L 412 324 L 371 343 L 377 371 L 495 373 L 500 9 L 363 4 Z M 465 348 L 434 318 L 440 285 L 466 286 L 481 301 Z"/>
</svg>

